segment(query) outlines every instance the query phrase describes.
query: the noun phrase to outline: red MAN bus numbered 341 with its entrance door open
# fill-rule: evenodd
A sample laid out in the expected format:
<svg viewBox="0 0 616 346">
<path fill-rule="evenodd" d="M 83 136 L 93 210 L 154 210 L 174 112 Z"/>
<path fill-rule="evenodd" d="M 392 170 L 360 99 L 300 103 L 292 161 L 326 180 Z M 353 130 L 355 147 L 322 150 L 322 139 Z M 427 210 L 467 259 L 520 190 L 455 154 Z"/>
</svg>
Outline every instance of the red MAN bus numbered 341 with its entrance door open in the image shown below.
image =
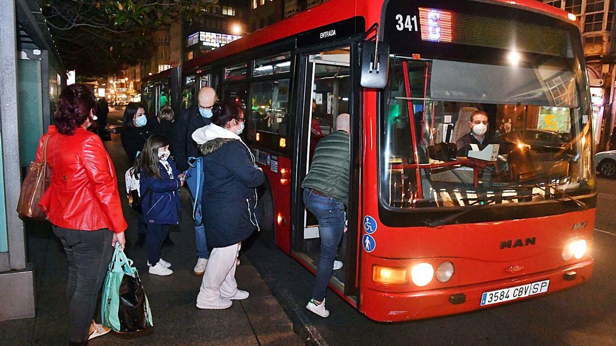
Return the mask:
<svg viewBox="0 0 616 346">
<path fill-rule="evenodd" d="M 330 288 L 373 320 L 415 320 L 590 279 L 580 37 L 575 16 L 532 0 L 330 0 L 145 79 L 143 98 L 180 111 L 213 86 L 245 107 L 267 175 L 260 236 L 313 273 L 300 185 L 351 114 L 349 231 Z M 466 145 L 477 110 L 487 132 Z"/>
</svg>

